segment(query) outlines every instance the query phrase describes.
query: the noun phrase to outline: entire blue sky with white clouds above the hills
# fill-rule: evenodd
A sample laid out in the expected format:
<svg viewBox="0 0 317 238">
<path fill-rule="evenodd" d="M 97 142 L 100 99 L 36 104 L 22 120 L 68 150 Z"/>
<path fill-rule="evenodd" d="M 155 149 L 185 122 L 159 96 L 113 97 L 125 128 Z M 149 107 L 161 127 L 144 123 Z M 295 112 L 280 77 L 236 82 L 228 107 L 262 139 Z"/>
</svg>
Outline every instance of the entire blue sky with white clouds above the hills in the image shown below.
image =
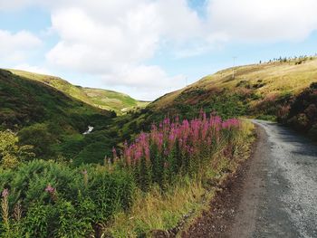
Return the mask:
<svg viewBox="0 0 317 238">
<path fill-rule="evenodd" d="M 317 52 L 317 0 L 0 0 L 0 68 L 155 100 L 207 74 Z"/>
</svg>

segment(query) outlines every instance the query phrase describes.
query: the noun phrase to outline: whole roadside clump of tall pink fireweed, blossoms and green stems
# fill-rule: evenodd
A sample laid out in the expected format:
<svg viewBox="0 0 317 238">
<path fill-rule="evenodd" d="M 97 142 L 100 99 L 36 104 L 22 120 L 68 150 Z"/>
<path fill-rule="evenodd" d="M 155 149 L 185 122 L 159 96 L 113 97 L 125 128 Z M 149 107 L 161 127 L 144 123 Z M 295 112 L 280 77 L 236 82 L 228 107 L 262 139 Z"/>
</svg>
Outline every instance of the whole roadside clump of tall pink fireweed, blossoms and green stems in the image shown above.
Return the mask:
<svg viewBox="0 0 317 238">
<path fill-rule="evenodd" d="M 194 176 L 206 167 L 220 144 L 231 143 L 239 126 L 238 119 L 205 113 L 192 120 L 164 119 L 134 143 L 125 143 L 121 159 L 142 189 L 152 183 L 163 187 L 178 175 Z"/>
</svg>

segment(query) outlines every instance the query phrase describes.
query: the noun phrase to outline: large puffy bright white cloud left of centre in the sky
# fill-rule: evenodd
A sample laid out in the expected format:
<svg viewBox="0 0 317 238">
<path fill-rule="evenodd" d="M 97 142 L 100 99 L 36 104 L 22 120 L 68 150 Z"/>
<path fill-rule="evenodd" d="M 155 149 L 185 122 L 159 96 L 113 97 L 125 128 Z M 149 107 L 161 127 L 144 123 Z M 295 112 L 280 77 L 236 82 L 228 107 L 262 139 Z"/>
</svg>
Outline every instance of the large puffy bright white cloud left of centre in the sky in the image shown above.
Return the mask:
<svg viewBox="0 0 317 238">
<path fill-rule="evenodd" d="M 155 21 L 150 22 L 155 17 L 152 6 L 126 9 L 125 14 L 124 11 L 120 10 L 121 19 L 106 22 L 80 8 L 55 11 L 52 24 L 61 41 L 48 52 L 47 59 L 89 73 L 111 71 L 149 59 L 159 42 Z"/>
</svg>

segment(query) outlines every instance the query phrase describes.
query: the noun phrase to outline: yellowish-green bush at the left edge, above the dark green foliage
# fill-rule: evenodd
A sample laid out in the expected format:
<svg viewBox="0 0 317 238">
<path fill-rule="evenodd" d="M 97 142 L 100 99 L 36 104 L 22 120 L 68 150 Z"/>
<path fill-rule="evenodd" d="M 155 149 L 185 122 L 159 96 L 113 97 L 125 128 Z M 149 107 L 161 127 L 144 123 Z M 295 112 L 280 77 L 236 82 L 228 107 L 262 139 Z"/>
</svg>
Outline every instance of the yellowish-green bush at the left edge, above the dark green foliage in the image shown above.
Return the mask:
<svg viewBox="0 0 317 238">
<path fill-rule="evenodd" d="M 11 130 L 0 131 L 0 162 L 4 168 L 14 168 L 24 159 L 34 157 L 33 146 L 18 146 L 19 138 Z"/>
</svg>

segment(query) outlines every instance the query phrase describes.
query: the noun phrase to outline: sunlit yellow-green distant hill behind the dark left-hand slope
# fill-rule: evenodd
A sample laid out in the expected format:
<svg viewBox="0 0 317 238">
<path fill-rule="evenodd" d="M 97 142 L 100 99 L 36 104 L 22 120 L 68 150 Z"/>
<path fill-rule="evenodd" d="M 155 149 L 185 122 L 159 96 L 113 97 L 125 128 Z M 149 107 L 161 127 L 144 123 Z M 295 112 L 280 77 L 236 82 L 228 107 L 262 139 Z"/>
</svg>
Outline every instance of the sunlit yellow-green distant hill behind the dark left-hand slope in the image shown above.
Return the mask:
<svg viewBox="0 0 317 238">
<path fill-rule="evenodd" d="M 41 81 L 57 90 L 61 90 L 62 92 L 70 95 L 72 98 L 82 100 L 91 106 L 101 109 L 114 110 L 119 115 L 130 111 L 131 109 L 142 108 L 149 104 L 149 102 L 135 100 L 129 95 L 113 90 L 91 89 L 75 86 L 59 77 L 29 71 L 9 71 L 30 80 Z"/>
</svg>

